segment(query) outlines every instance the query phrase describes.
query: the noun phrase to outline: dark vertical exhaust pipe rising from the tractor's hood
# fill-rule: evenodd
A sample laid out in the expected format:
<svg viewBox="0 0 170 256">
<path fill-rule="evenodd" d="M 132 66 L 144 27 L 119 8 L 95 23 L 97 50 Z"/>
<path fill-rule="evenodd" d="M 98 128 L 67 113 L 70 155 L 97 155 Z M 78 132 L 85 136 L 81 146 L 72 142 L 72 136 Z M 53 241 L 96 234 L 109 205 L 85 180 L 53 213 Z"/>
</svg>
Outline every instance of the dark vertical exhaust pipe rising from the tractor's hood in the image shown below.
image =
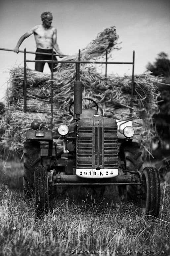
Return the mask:
<svg viewBox="0 0 170 256">
<path fill-rule="evenodd" d="M 80 61 L 80 50 L 79 57 Z M 82 82 L 80 81 L 80 63 L 76 63 L 76 81 L 74 82 L 74 119 L 80 120 L 82 114 Z"/>
</svg>

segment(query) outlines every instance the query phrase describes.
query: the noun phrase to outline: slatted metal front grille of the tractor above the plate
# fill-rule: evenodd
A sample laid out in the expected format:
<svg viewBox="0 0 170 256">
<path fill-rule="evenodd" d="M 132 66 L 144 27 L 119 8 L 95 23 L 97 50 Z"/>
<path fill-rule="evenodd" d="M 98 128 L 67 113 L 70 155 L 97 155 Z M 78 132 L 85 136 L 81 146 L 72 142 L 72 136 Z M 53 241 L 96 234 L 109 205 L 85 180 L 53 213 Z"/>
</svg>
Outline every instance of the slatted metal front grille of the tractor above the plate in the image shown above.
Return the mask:
<svg viewBox="0 0 170 256">
<path fill-rule="evenodd" d="M 76 168 L 118 168 L 117 127 L 78 127 Z"/>
</svg>

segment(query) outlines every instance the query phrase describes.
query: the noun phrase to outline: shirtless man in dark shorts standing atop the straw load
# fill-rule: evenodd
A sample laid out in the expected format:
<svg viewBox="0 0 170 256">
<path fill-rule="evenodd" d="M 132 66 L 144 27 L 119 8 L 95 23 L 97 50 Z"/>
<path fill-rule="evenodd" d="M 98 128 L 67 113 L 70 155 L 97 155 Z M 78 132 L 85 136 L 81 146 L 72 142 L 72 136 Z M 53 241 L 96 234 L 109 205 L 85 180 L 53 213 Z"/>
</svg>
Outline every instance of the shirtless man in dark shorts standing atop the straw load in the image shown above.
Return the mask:
<svg viewBox="0 0 170 256">
<path fill-rule="evenodd" d="M 42 24 L 36 25 L 31 28 L 28 32 L 21 36 L 19 39 L 14 52 L 19 52 L 19 47 L 22 44 L 23 40 L 30 35 L 34 34 L 35 42 L 36 42 L 36 52 L 38 53 L 52 53 L 52 49 L 54 48 L 58 55 L 63 55 L 59 49 L 57 44 L 57 29 L 51 26 L 53 21 L 53 16 L 51 12 L 43 12 L 41 14 Z M 55 52 L 54 52 L 55 54 Z M 36 54 L 35 60 L 51 60 L 50 55 Z M 57 61 L 56 56 L 54 56 L 54 61 Z M 37 62 L 35 63 L 35 70 L 43 72 L 45 63 Z M 50 69 L 52 69 L 51 63 L 48 63 Z M 57 66 L 57 63 L 53 63 L 54 71 Z"/>
</svg>

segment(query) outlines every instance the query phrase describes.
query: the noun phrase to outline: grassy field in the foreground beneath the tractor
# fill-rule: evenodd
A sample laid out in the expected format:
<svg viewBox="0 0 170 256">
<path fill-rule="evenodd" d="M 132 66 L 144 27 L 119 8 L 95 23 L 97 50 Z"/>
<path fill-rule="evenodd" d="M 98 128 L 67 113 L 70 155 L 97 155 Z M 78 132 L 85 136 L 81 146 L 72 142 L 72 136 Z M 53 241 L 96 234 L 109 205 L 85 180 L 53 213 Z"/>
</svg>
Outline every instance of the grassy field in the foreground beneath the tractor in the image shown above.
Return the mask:
<svg viewBox="0 0 170 256">
<path fill-rule="evenodd" d="M 0 168 L 0 255 L 170 255 L 169 192 L 161 184 L 159 219 L 147 218 L 133 202 L 119 201 L 116 187 L 103 198 L 74 187 L 50 202 L 42 219 L 22 194 L 22 163 Z"/>
</svg>

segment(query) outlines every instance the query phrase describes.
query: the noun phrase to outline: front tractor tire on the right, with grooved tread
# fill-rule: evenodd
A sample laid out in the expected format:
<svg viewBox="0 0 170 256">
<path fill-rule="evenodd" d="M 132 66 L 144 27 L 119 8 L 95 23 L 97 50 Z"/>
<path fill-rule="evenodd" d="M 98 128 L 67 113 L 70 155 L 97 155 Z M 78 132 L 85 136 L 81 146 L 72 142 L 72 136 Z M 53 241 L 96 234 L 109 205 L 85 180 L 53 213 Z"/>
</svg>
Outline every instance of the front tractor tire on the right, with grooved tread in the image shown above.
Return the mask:
<svg viewBox="0 0 170 256">
<path fill-rule="evenodd" d="M 157 217 L 160 207 L 160 179 L 158 170 L 153 167 L 144 168 L 142 180 L 142 211 L 145 215 Z"/>
</svg>

